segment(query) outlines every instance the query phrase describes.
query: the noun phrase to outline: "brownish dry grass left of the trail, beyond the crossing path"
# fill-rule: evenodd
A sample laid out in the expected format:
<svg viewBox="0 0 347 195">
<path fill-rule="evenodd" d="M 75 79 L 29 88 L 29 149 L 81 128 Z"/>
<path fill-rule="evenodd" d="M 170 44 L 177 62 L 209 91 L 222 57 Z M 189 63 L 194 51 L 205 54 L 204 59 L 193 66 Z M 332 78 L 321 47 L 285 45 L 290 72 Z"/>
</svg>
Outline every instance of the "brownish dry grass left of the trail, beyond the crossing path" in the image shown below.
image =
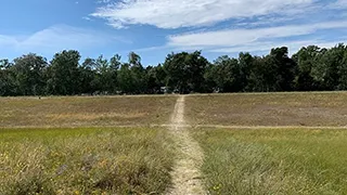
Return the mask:
<svg viewBox="0 0 347 195">
<path fill-rule="evenodd" d="M 165 95 L 0 98 L 0 128 L 165 123 L 176 99 Z"/>
</svg>

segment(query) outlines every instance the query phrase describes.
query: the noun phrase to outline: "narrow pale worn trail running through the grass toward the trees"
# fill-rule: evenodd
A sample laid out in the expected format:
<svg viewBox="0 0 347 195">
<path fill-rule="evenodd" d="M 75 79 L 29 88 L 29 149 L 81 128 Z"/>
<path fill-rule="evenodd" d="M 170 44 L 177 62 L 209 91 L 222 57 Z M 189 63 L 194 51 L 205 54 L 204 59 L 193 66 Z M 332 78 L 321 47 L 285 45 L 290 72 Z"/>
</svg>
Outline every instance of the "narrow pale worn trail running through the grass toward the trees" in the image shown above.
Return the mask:
<svg viewBox="0 0 347 195">
<path fill-rule="evenodd" d="M 194 141 L 185 127 L 184 96 L 179 96 L 171 116 L 169 132 L 172 134 L 180 154 L 176 159 L 171 172 L 174 186 L 169 195 L 195 195 L 206 194 L 202 181 L 200 167 L 203 161 L 203 151 Z"/>
</svg>

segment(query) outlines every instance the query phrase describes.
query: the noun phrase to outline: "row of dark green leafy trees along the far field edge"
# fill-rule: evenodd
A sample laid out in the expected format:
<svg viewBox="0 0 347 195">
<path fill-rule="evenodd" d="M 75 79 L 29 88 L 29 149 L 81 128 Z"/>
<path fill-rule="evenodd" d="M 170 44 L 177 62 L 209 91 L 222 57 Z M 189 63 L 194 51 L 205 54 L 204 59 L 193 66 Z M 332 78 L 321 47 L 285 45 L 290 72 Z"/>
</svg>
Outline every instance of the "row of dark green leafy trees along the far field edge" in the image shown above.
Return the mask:
<svg viewBox="0 0 347 195">
<path fill-rule="evenodd" d="M 80 63 L 81 62 L 81 63 Z M 347 90 L 347 46 L 309 46 L 288 56 L 286 47 L 268 55 L 240 53 L 214 62 L 201 51 L 167 55 L 163 64 L 143 66 L 129 53 L 81 61 L 75 50 L 48 62 L 29 53 L 0 60 L 0 95 L 157 94 L 164 92 L 280 92 Z"/>
</svg>

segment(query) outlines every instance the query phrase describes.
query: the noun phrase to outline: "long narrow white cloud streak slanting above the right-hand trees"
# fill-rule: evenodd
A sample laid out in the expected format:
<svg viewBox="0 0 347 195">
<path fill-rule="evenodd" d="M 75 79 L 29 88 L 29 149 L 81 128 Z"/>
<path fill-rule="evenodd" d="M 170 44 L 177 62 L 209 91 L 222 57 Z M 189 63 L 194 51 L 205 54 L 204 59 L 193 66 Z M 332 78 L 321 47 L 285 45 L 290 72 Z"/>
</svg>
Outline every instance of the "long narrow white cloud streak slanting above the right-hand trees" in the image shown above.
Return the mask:
<svg viewBox="0 0 347 195">
<path fill-rule="evenodd" d="M 347 21 L 317 23 L 309 25 L 287 25 L 255 29 L 227 29 L 205 32 L 183 34 L 168 37 L 168 46 L 174 48 L 222 48 L 237 47 L 274 38 L 311 35 L 317 30 L 346 28 Z"/>
</svg>

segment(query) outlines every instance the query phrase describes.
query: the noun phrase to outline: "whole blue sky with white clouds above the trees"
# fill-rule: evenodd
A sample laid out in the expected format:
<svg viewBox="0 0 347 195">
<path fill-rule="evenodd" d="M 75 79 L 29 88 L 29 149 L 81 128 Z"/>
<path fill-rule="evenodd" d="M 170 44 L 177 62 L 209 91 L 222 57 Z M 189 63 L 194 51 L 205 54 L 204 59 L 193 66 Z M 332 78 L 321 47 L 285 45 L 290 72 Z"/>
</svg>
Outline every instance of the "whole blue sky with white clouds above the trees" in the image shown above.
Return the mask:
<svg viewBox="0 0 347 195">
<path fill-rule="evenodd" d="M 295 53 L 347 41 L 347 0 L 1 0 L 0 58 L 62 50 L 82 58 L 129 52 L 143 65 L 202 50 L 214 61 L 239 52 Z"/>
</svg>

